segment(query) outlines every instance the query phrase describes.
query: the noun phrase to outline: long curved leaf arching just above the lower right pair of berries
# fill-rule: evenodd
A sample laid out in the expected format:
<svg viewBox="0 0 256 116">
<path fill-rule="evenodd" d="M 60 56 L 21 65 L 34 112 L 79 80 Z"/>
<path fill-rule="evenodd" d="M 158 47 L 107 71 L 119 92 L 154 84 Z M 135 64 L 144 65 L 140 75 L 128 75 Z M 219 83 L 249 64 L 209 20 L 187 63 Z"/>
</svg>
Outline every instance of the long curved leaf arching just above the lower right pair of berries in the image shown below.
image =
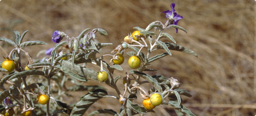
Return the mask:
<svg viewBox="0 0 256 116">
<path fill-rule="evenodd" d="M 131 70 L 129 72 L 146 79 L 148 82 L 150 82 L 150 84 L 152 84 L 158 90 L 158 92 L 162 93 L 162 87 L 160 86 L 160 84 L 157 82 L 156 79 L 152 78 L 151 76 L 143 72 L 134 71 L 134 70 Z"/>
</svg>

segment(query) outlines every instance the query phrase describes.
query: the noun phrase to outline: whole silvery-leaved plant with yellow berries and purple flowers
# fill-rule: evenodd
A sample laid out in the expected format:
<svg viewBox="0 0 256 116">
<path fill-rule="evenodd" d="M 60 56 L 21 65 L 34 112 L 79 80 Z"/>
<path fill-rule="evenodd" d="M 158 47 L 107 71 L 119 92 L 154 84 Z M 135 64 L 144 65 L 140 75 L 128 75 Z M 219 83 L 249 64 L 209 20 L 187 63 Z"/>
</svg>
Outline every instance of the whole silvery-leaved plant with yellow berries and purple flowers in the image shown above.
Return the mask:
<svg viewBox="0 0 256 116">
<path fill-rule="evenodd" d="M 32 59 L 29 53 L 22 49 L 31 45 L 46 45 L 45 42 L 41 41 L 22 43 L 23 37 L 28 30 L 23 32 L 22 35 L 15 31 L 17 36 L 15 42 L 6 38 L 0 38 L 1 41 L 7 42 L 15 47 L 8 56 L 8 58 L 15 62 L 15 71 L 6 73 L 0 82 L 0 89 L 2 90 L 0 100 L 5 99 L 5 104 L 7 99 L 12 100 L 13 105 L 6 107 L 0 105 L 0 112 L 19 107 L 20 110 L 17 110 L 15 114 L 31 112 L 33 116 L 43 114 L 46 114 L 46 116 L 55 116 L 58 114 L 58 116 L 61 116 L 62 113 L 65 113 L 69 116 L 82 116 L 94 102 L 97 102 L 101 98 L 110 97 L 113 100 L 119 101 L 121 105 L 117 106 L 117 108 L 121 107 L 118 110 L 120 112 L 112 109 L 102 109 L 91 112 L 89 116 L 101 113 L 108 113 L 114 116 L 132 116 L 135 114 L 141 114 L 142 116 L 147 112 L 150 113 L 150 110 L 154 110 L 160 104 L 173 107 L 178 116 L 181 116 L 181 114 L 195 116 L 182 105 L 183 100 L 180 95 L 191 97 L 191 94 L 186 90 L 179 89 L 181 84 L 177 79 L 162 75 L 150 76 L 145 73 L 148 71 L 157 72 L 154 66 L 150 66 L 150 63 L 171 55 L 170 50 L 177 50 L 198 57 L 194 51 L 178 44 L 173 44 L 176 43 L 173 37 L 163 32 L 168 28 L 176 28 L 176 30 L 181 29 L 187 33 L 184 28 L 177 25 L 178 21 L 183 17 L 175 12 L 174 7 L 175 4 L 171 3 L 172 10 L 162 12 L 167 17 L 167 21 L 164 24 L 161 21 L 154 21 L 146 29 L 134 27 L 133 29 L 137 33 L 134 35 L 136 40 L 134 40 L 131 32 L 129 32 L 130 35 L 128 34 L 127 38 L 125 38 L 125 42 L 116 45 L 117 47 L 110 54 L 104 54 L 101 57 L 97 57 L 98 55 L 96 56 L 96 54 L 100 53 L 104 47 L 112 45 L 111 43 L 98 43 L 97 40 L 100 40 L 100 37 L 96 33 L 99 33 L 101 36 L 108 35 L 101 28 L 92 30 L 87 28 L 77 37 L 69 37 L 65 32 L 55 31 L 52 34 L 52 41 L 56 43 L 54 48 L 42 50 L 37 53 L 37 56 L 41 53 L 47 55 L 42 59 Z M 154 32 L 150 31 L 153 28 Z M 159 30 L 158 34 L 156 30 Z M 66 40 L 61 42 L 63 38 L 66 38 Z M 161 38 L 168 38 L 173 43 L 162 42 L 160 41 Z M 131 52 L 127 52 L 127 49 L 131 50 Z M 146 49 L 147 52 L 142 52 L 142 49 Z M 164 49 L 166 52 L 150 57 L 152 52 L 159 49 Z M 63 54 L 64 51 L 65 54 Z M 29 62 L 27 62 L 26 66 L 30 70 L 24 70 L 25 66 L 21 65 L 21 61 L 23 61 L 21 60 L 21 54 L 27 56 Z M 31 55 L 34 56 L 33 54 Z M 136 64 L 136 66 L 133 66 L 133 69 L 129 68 L 130 71 L 125 70 L 123 73 L 126 75 L 125 77 L 121 78 L 121 76 L 117 76 L 114 78 L 115 70 L 124 70 L 121 67 L 124 64 L 108 64 L 106 61 L 122 60 L 123 62 L 124 55 L 129 56 L 130 59 L 136 58 L 136 61 L 124 60 L 125 62 L 129 62 L 129 65 Z M 66 58 L 69 59 L 63 60 Z M 90 65 L 86 64 L 98 66 L 98 69 L 94 71 L 90 69 Z M 0 66 L 2 66 L 2 62 L 0 62 Z M 6 72 L 7 70 L 0 67 L 0 71 Z M 103 75 L 104 80 L 103 76 L 99 75 L 100 72 L 106 72 Z M 110 91 L 115 91 L 116 94 L 110 95 L 100 86 L 82 86 L 83 83 L 87 83 L 88 81 L 98 84 L 99 79 L 101 83 L 111 88 Z M 118 81 L 119 79 L 121 81 Z M 27 82 L 27 80 L 29 81 Z M 71 82 L 75 86 L 67 87 Z M 124 86 L 117 86 L 118 83 L 122 83 Z M 148 88 L 148 86 L 145 86 L 146 83 L 152 84 L 153 87 Z M 7 90 L 4 84 L 11 84 L 12 86 Z M 144 86 L 145 90 L 142 86 Z M 67 91 L 85 90 L 89 90 L 90 92 L 81 96 L 75 105 L 69 106 L 67 103 L 60 101 L 62 96 L 67 95 Z M 39 104 L 37 97 L 40 95 L 47 95 L 51 100 L 49 102 L 47 100 L 46 105 Z M 144 100 L 138 98 L 143 98 Z M 133 100 L 136 99 L 141 104 L 134 104 Z M 108 108 L 107 105 L 106 108 Z"/>
</svg>

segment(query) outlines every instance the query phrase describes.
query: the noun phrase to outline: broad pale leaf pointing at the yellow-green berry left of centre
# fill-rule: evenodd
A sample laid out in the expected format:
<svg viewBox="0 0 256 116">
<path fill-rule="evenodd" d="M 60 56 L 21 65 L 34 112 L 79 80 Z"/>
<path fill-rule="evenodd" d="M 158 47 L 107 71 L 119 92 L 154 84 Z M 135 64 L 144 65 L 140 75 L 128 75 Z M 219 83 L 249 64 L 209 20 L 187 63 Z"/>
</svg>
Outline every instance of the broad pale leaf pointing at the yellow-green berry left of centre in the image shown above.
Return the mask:
<svg viewBox="0 0 256 116">
<path fill-rule="evenodd" d="M 67 68 L 68 70 L 72 70 L 76 74 L 80 74 L 80 75 L 84 76 L 85 78 L 91 78 L 94 80 L 98 80 L 97 72 L 95 72 L 92 69 L 84 68 L 82 66 L 78 66 L 77 64 L 75 64 L 75 67 L 73 68 L 72 63 L 68 62 L 66 60 L 59 60 L 59 63 L 61 65 L 65 66 L 65 68 Z"/>
</svg>

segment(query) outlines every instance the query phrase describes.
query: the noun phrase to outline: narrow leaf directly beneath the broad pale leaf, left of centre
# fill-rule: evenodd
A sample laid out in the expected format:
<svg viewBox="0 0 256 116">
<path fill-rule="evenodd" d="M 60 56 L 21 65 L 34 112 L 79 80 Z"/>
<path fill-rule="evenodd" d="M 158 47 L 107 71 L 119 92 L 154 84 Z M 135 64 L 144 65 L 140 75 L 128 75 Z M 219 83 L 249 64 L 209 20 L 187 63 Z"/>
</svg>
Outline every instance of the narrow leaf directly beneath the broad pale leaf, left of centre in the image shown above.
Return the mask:
<svg viewBox="0 0 256 116">
<path fill-rule="evenodd" d="M 81 74 L 78 75 L 78 74 L 72 72 L 71 70 L 67 69 L 67 68 L 66 68 L 65 66 L 63 66 L 63 65 L 57 65 L 57 67 L 62 68 L 62 70 L 63 70 L 64 72 L 66 72 L 67 74 L 69 74 L 70 77 L 75 78 L 76 80 L 80 80 L 80 81 L 83 81 L 83 82 L 89 81 L 88 79 L 86 79 L 86 78 L 85 78 L 84 76 L 82 76 Z"/>
</svg>

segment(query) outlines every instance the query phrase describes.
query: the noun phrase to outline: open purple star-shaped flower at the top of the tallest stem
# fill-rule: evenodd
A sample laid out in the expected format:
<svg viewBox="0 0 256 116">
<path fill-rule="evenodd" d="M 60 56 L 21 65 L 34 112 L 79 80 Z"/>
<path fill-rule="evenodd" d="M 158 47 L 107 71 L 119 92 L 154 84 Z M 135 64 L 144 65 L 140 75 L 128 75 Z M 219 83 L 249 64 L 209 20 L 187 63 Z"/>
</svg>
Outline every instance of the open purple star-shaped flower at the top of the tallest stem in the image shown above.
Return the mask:
<svg viewBox="0 0 256 116">
<path fill-rule="evenodd" d="M 170 20 L 170 22 L 169 22 L 169 24 L 167 26 L 169 26 L 171 24 L 177 25 L 179 20 L 181 20 L 183 18 L 182 16 L 177 14 L 177 12 L 175 12 L 174 7 L 175 7 L 175 3 L 171 3 L 171 8 L 172 8 L 171 11 L 170 10 L 166 10 L 164 12 L 161 12 L 161 13 L 165 14 L 167 20 Z M 178 33 L 178 29 L 177 28 L 176 28 L 176 33 Z"/>
</svg>

